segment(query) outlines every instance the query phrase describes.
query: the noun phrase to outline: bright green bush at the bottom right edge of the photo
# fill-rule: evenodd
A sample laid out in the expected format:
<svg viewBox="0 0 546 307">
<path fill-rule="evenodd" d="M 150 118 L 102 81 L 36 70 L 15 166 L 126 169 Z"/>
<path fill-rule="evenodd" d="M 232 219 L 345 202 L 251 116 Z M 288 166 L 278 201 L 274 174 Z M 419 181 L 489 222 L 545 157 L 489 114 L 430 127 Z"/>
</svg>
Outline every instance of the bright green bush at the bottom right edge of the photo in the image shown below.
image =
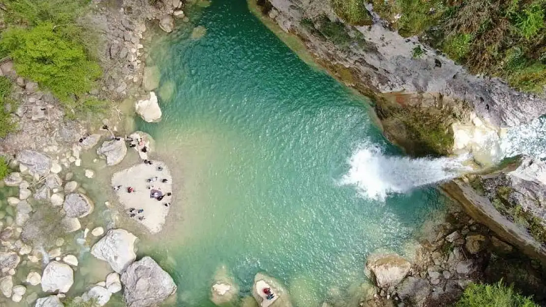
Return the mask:
<svg viewBox="0 0 546 307">
<path fill-rule="evenodd" d="M 538 307 L 502 280 L 494 285 L 470 284 L 455 307 Z"/>
</svg>

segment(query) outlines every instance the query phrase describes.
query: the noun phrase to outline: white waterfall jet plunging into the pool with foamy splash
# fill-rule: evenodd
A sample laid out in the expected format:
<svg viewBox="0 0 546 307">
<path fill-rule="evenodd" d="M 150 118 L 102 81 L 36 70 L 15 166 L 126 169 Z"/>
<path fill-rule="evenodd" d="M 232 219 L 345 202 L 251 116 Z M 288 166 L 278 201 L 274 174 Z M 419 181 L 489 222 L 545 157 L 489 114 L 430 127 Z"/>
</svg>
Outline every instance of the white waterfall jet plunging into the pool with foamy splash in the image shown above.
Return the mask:
<svg viewBox="0 0 546 307">
<path fill-rule="evenodd" d="M 360 195 L 384 200 L 389 193 L 407 192 L 419 186 L 440 182 L 471 171 L 462 163 L 468 156 L 455 158 L 408 158 L 385 155 L 369 143 L 360 146 L 349 164 L 341 184 L 354 185 Z"/>
</svg>

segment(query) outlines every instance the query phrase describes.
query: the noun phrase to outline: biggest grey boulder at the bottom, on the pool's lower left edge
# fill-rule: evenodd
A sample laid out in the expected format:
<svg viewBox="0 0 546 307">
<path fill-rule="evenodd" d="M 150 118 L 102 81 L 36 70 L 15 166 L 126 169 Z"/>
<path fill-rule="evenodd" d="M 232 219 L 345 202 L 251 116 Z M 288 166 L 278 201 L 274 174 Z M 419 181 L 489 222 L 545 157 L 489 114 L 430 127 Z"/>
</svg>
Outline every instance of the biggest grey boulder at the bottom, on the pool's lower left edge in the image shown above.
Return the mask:
<svg viewBox="0 0 546 307">
<path fill-rule="evenodd" d="M 176 292 L 173 278 L 150 257 L 130 264 L 121 275 L 123 298 L 128 307 L 148 307 Z"/>
</svg>

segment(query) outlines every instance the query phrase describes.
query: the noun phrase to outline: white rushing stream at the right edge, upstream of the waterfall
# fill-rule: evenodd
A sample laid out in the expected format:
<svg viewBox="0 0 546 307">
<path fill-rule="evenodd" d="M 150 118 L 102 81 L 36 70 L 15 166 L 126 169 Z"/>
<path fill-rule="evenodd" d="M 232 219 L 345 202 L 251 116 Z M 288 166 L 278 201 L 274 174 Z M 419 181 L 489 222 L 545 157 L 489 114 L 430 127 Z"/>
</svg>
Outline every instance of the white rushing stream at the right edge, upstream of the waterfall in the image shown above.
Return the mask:
<svg viewBox="0 0 546 307">
<path fill-rule="evenodd" d="M 509 128 L 501 138 L 504 157 L 527 154 L 546 159 L 546 117 L 539 117 L 529 124 Z"/>
</svg>

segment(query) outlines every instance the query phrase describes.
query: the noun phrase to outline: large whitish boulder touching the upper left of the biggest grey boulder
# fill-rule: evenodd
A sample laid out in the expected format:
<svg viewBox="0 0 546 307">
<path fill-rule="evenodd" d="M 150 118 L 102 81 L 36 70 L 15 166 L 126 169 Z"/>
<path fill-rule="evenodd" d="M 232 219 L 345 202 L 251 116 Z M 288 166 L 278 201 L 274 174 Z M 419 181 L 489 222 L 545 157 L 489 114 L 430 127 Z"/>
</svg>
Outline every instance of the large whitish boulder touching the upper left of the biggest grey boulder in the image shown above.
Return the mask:
<svg viewBox="0 0 546 307">
<path fill-rule="evenodd" d="M 91 254 L 110 264 L 117 273 L 122 273 L 135 261 L 134 242 L 136 237 L 123 229 L 113 229 L 91 249 Z"/>
</svg>

